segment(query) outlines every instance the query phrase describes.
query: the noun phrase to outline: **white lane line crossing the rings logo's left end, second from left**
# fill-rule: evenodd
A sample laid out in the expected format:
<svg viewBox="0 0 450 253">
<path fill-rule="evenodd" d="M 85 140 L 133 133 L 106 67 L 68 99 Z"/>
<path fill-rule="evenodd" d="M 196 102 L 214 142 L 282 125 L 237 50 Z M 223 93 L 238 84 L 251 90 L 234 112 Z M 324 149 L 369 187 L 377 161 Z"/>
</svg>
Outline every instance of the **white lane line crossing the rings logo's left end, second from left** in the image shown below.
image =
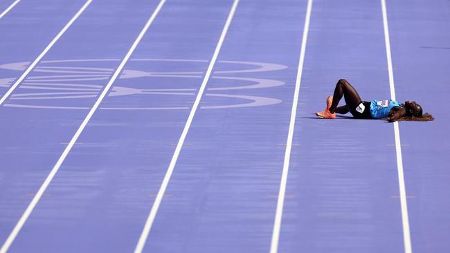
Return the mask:
<svg viewBox="0 0 450 253">
<path fill-rule="evenodd" d="M 3 104 L 3 102 L 5 102 L 5 100 L 9 97 L 9 95 L 11 95 L 12 91 L 14 91 L 15 88 L 17 88 L 17 86 L 19 86 L 19 84 L 22 81 L 24 81 L 24 79 L 33 70 L 33 68 L 36 66 L 36 64 L 39 63 L 39 61 L 42 59 L 42 57 L 44 57 L 44 55 L 48 52 L 48 50 L 50 50 L 50 48 L 56 43 L 56 41 L 58 39 L 60 39 L 60 37 L 64 34 L 64 32 L 66 32 L 66 30 L 69 29 L 69 27 L 73 24 L 73 22 L 76 19 L 78 19 L 78 17 L 87 8 L 87 6 L 89 6 L 91 1 L 92 0 L 88 0 L 88 1 L 86 1 L 86 3 L 84 3 L 82 8 L 80 8 L 80 10 L 78 10 L 78 12 L 75 14 L 75 16 L 72 17 L 72 19 L 69 21 L 69 23 L 67 23 L 66 26 L 64 26 L 64 28 L 62 28 L 62 30 L 56 35 L 55 38 L 53 38 L 53 40 L 50 42 L 50 44 L 48 44 L 48 46 L 44 49 L 44 51 L 42 51 L 42 53 L 35 59 L 35 61 L 32 64 L 30 64 L 30 66 L 28 66 L 28 68 L 26 68 L 26 71 L 19 77 L 19 79 L 17 79 L 17 81 L 14 84 L 12 84 L 12 86 L 5 93 L 5 95 L 3 95 L 3 97 L 1 97 L 1 99 L 0 99 L 0 106 Z"/>
</svg>

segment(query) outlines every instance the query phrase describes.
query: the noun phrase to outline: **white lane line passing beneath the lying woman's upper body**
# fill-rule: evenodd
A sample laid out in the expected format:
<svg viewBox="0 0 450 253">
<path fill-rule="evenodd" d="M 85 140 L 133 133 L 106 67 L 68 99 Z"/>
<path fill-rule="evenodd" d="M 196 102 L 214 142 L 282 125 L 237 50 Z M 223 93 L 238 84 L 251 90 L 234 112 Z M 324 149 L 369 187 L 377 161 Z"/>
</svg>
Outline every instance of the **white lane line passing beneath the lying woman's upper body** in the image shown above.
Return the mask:
<svg viewBox="0 0 450 253">
<path fill-rule="evenodd" d="M 381 9 L 383 11 L 384 42 L 386 44 L 386 57 L 388 60 L 390 98 L 392 100 L 395 100 L 394 73 L 392 68 L 392 56 L 390 55 L 390 39 L 388 28 L 388 13 L 386 10 L 386 0 L 381 0 Z M 411 235 L 409 232 L 408 204 L 406 202 L 406 187 L 403 173 L 403 160 L 402 160 L 402 144 L 400 142 L 400 132 L 398 122 L 394 122 L 394 134 L 395 134 L 395 151 L 397 152 L 397 172 L 399 177 L 400 205 L 402 209 L 404 249 L 405 253 L 411 253 L 413 252 L 413 250 L 411 247 Z"/>
</svg>

